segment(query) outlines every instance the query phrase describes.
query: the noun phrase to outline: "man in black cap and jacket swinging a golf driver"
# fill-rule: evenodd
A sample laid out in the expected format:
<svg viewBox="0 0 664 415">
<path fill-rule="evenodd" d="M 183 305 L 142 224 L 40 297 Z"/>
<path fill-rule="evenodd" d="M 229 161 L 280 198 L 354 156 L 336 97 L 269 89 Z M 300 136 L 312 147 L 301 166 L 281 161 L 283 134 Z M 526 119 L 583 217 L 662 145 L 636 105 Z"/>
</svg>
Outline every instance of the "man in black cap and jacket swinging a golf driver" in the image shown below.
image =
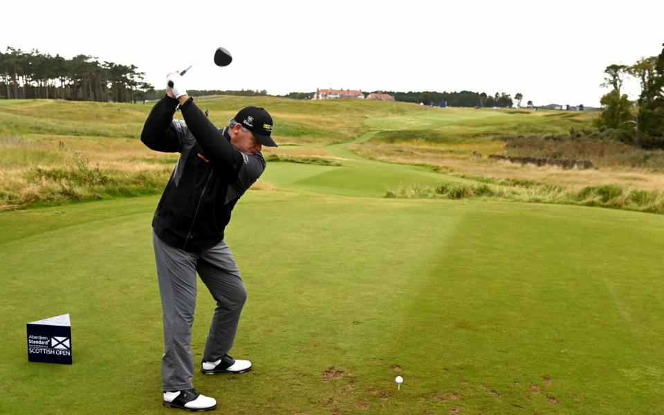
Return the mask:
<svg viewBox="0 0 664 415">
<path fill-rule="evenodd" d="M 164 405 L 191 411 L 214 409 L 216 400 L 199 394 L 192 379 L 191 331 L 196 304 L 196 273 L 216 300 L 205 343 L 204 374 L 241 374 L 248 360 L 228 356 L 247 297 L 223 231 L 242 194 L 265 169 L 261 147 L 277 147 L 272 117 L 246 107 L 217 129 L 187 95 L 183 77 L 167 77 L 172 87 L 151 110 L 140 140 L 150 149 L 180 153 L 152 219 L 154 256 L 163 306 Z M 185 119 L 173 119 L 176 108 Z"/>
</svg>

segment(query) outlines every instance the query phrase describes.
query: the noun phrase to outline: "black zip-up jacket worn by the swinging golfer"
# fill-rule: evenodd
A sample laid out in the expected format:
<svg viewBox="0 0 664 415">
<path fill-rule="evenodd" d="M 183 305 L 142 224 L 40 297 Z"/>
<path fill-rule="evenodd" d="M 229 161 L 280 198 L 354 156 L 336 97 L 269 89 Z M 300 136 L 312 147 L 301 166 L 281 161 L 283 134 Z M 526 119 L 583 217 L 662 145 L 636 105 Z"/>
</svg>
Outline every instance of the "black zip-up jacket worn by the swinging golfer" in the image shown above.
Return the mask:
<svg viewBox="0 0 664 415">
<path fill-rule="evenodd" d="M 223 240 L 235 203 L 265 169 L 258 153 L 243 154 L 230 144 L 190 99 L 181 105 L 185 122 L 173 119 L 178 101 L 165 97 L 145 120 L 140 140 L 180 159 L 154 212 L 152 227 L 175 248 L 197 251 Z"/>
</svg>

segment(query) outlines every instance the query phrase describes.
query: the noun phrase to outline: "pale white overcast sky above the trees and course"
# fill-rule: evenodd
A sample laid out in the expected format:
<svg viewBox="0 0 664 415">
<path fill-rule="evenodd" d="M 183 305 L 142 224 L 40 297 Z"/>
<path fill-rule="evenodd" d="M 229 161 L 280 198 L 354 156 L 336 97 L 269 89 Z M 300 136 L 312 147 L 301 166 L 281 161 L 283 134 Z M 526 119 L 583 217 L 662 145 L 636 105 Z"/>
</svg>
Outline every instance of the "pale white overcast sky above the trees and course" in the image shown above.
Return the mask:
<svg viewBox="0 0 664 415">
<path fill-rule="evenodd" d="M 597 106 L 602 72 L 658 55 L 664 2 L 10 1 L 0 48 L 133 64 L 157 88 L 477 91 Z M 230 50 L 218 68 L 212 55 Z M 636 90 L 631 90 L 636 93 Z"/>
</svg>

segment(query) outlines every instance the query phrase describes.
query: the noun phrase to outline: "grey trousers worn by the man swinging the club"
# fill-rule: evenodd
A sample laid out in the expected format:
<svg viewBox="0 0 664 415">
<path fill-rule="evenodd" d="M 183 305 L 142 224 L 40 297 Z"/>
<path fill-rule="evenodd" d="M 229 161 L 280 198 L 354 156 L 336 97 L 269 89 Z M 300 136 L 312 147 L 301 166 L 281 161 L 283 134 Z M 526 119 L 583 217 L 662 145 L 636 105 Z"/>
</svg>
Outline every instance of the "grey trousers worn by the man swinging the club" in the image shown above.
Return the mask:
<svg viewBox="0 0 664 415">
<path fill-rule="evenodd" d="M 163 387 L 165 391 L 191 389 L 194 378 L 192 324 L 196 307 L 196 273 L 216 300 L 203 360 L 219 360 L 233 346 L 247 291 L 225 242 L 200 252 L 187 252 L 169 246 L 154 232 L 152 241 L 164 311 Z"/>
</svg>

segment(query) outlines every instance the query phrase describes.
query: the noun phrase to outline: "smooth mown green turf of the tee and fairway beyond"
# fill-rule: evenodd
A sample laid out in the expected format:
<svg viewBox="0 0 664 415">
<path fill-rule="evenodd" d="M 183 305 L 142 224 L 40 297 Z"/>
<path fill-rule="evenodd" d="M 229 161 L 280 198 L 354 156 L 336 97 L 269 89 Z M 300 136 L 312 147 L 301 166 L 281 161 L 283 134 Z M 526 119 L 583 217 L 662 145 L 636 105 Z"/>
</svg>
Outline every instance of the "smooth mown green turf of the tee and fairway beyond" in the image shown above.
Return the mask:
<svg viewBox="0 0 664 415">
<path fill-rule="evenodd" d="M 297 125 L 291 102 L 275 105 Z M 341 137 L 367 124 L 339 127 Z M 196 374 L 217 413 L 664 412 L 664 216 L 385 199 L 398 185 L 465 179 L 335 141 L 285 146 L 341 165 L 269 163 L 264 190 L 234 211 L 227 241 L 249 298 L 231 354 L 254 369 Z M 0 413 L 179 413 L 161 405 L 157 202 L 0 212 Z M 214 307 L 199 289 L 195 362 Z M 63 313 L 73 365 L 28 363 L 26 322 Z"/>
</svg>

